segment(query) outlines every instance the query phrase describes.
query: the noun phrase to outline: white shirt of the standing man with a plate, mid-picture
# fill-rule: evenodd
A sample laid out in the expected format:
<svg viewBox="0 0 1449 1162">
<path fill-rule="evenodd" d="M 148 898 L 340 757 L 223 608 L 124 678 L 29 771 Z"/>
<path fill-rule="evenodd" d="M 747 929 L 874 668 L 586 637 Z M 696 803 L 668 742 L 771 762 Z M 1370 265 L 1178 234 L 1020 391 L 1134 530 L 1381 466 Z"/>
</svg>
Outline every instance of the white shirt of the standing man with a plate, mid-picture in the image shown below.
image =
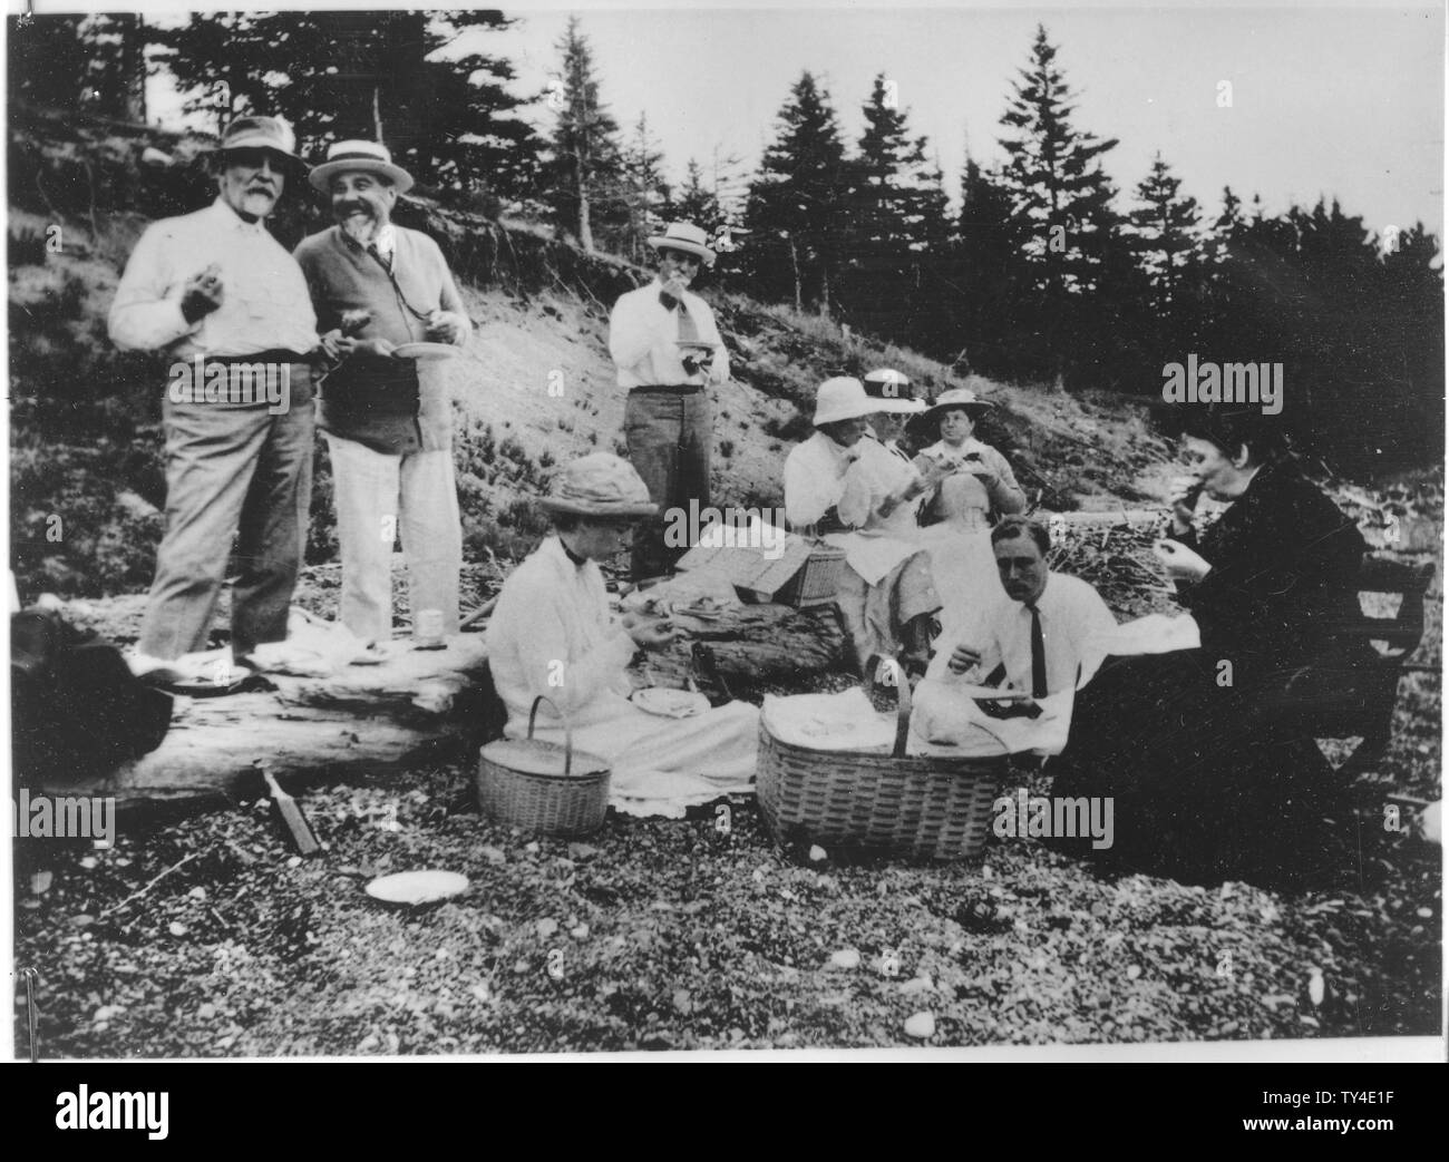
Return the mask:
<svg viewBox="0 0 1449 1162">
<path fill-rule="evenodd" d="M 697 294 L 684 293 L 681 307 L 694 325 L 701 343 L 714 348 L 714 362 L 709 371 L 690 375 L 684 369 L 680 348 L 680 310 L 668 310 L 659 301 L 664 290 L 658 278 L 648 285 L 619 296 L 609 316 L 609 354 L 625 388 L 655 384 L 722 384 L 729 380 L 729 352 L 714 326 L 710 304 Z"/>
</svg>

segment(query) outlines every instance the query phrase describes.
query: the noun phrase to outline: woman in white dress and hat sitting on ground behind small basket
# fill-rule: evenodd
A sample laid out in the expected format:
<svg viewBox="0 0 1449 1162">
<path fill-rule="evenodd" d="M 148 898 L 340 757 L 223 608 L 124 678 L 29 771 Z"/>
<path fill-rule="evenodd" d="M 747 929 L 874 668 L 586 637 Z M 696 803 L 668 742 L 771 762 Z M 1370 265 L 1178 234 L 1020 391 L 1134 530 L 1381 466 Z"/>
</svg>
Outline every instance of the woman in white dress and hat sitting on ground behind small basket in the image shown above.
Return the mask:
<svg viewBox="0 0 1449 1162">
<path fill-rule="evenodd" d="M 674 640 L 668 619 L 609 610 L 596 562 L 629 546 L 635 526 L 656 513 L 630 464 L 607 453 L 574 461 L 540 506 L 555 535 L 503 585 L 488 623 L 488 665 L 509 710 L 504 733 L 527 735 L 542 694 L 568 717 L 574 746 L 609 761 L 613 806 L 629 814 L 682 816 L 691 804 L 749 793 L 759 711 L 729 703 L 691 719 L 662 719 L 629 701 L 629 662 Z M 549 703 L 535 737 L 564 742 Z"/>
</svg>

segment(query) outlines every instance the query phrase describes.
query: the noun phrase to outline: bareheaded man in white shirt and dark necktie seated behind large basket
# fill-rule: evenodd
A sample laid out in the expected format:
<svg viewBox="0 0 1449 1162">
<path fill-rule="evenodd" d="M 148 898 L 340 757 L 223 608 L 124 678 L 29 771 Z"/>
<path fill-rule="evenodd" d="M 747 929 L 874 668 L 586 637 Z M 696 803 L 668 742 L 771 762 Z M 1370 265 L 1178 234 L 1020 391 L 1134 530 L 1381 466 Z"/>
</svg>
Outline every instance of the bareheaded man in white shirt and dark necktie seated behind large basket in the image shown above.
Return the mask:
<svg viewBox="0 0 1449 1162">
<path fill-rule="evenodd" d="M 969 697 L 962 685 L 998 685 L 1004 677 L 1033 698 L 1075 688 L 1087 640 L 1117 624 L 1088 582 L 1046 567 L 1052 542 L 1039 522 L 1003 519 L 991 530 L 991 548 L 1003 593 L 972 629 L 945 627 L 916 691 L 929 736 L 942 735 L 943 720 L 965 710 L 956 706 Z"/>
</svg>

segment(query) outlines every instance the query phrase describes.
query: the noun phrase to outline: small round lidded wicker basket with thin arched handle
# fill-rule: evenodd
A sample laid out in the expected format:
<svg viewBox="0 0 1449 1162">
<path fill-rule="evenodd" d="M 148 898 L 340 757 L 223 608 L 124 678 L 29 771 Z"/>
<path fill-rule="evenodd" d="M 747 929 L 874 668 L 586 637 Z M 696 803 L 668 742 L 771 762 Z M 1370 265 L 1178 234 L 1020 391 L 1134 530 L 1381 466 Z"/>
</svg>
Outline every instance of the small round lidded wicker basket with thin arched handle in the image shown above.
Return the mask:
<svg viewBox="0 0 1449 1162">
<path fill-rule="evenodd" d="M 533 737 L 539 703 L 564 719 L 564 745 Z M 578 769 L 575 769 L 575 765 Z M 500 823 L 539 835 L 593 835 L 609 808 L 609 764 L 574 751 L 568 719 L 542 694 L 529 710 L 526 739 L 500 739 L 478 752 L 478 806 Z"/>
</svg>

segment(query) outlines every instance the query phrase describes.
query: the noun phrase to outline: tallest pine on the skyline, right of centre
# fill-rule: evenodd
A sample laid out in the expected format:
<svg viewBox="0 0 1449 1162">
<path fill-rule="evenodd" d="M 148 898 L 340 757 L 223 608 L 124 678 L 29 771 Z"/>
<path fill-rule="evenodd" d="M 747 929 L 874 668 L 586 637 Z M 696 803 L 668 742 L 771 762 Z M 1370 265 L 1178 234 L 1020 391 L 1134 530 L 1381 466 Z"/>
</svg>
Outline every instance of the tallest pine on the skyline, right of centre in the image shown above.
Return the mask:
<svg viewBox="0 0 1449 1162">
<path fill-rule="evenodd" d="M 1072 93 L 1056 67 L 1056 48 L 1037 25 L 1036 41 L 1001 125 L 1007 152 L 1003 178 L 1011 191 L 1019 245 L 1036 269 L 1036 284 L 1051 303 L 1091 291 L 1117 216 L 1116 191 L 1101 156 L 1117 145 L 1072 126 Z"/>
</svg>

